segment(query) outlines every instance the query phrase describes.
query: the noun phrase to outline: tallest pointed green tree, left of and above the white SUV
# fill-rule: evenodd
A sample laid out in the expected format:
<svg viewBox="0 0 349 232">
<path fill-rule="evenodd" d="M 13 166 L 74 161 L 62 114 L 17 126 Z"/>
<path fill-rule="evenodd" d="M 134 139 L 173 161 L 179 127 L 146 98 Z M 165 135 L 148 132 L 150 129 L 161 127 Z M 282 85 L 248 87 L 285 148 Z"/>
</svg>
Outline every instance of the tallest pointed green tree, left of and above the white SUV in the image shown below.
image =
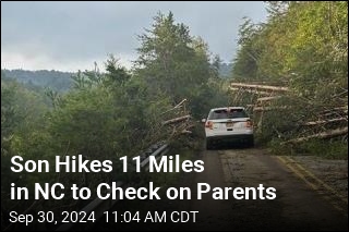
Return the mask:
<svg viewBox="0 0 349 232">
<path fill-rule="evenodd" d="M 216 58 L 212 64 L 207 45 L 190 36 L 188 26 L 174 23 L 171 12 L 158 13 L 154 21 L 152 29 L 139 36 L 140 58 L 134 73 L 146 81 L 154 96 L 165 93 L 173 103 L 186 98 L 192 114 L 201 118 L 208 107 L 220 103 L 215 101 L 221 93 L 220 61 Z"/>
</svg>

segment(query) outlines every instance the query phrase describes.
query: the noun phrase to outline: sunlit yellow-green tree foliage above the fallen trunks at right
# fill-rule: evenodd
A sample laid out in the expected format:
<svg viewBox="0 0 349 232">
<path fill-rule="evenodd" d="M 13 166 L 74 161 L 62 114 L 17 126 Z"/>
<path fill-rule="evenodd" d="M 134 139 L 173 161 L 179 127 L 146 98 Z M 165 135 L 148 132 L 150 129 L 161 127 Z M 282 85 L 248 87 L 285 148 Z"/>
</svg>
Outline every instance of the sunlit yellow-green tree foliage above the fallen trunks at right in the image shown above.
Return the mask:
<svg viewBox="0 0 349 232">
<path fill-rule="evenodd" d="M 348 2 L 268 2 L 268 11 L 267 23 L 241 25 L 233 77 L 288 83 L 327 102 L 348 88 Z"/>
</svg>

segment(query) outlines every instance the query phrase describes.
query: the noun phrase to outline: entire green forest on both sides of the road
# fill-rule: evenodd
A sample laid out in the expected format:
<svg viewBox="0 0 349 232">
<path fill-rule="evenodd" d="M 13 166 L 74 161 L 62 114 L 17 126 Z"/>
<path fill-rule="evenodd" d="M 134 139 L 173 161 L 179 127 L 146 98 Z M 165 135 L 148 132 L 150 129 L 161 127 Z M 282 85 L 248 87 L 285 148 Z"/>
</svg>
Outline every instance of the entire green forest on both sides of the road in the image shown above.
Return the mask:
<svg viewBox="0 0 349 232">
<path fill-rule="evenodd" d="M 155 15 L 149 28 L 139 35 L 139 57 L 131 70 L 120 65 L 117 54 L 106 59 L 105 72 L 98 66 L 75 73 L 2 70 L 1 175 L 7 176 L 1 182 L 2 212 L 23 211 L 33 204 L 10 200 L 13 182 L 28 187 L 36 182 L 86 184 L 82 173 L 13 173 L 10 159 L 15 155 L 53 160 L 55 156 L 82 154 L 88 159 L 116 160 L 135 156 L 159 141 L 168 141 L 178 149 L 201 149 L 200 120 L 208 110 L 245 106 L 251 99 L 237 99 L 229 89 L 230 82 L 267 83 L 291 89 L 272 103 L 290 109 L 263 115 L 258 146 L 276 152 L 322 151 L 330 158 L 347 159 L 347 133 L 325 141 L 315 137 L 297 146 L 280 144 L 348 127 L 348 2 L 266 4 L 266 22 L 255 24 L 245 19 L 240 26 L 231 72 L 230 64 L 222 64 L 201 37 L 177 23 L 171 12 Z M 169 110 L 184 99 L 185 108 L 181 110 L 191 115 L 194 124 L 189 137 L 161 124 L 180 115 Z M 318 120 L 324 111 L 344 120 L 312 129 L 300 125 Z M 112 173 L 88 174 L 93 181 L 87 185 L 116 175 L 130 178 L 115 169 Z M 81 206 L 79 200 L 72 205 L 69 197 L 63 202 L 50 200 L 40 207 L 62 210 Z"/>
</svg>

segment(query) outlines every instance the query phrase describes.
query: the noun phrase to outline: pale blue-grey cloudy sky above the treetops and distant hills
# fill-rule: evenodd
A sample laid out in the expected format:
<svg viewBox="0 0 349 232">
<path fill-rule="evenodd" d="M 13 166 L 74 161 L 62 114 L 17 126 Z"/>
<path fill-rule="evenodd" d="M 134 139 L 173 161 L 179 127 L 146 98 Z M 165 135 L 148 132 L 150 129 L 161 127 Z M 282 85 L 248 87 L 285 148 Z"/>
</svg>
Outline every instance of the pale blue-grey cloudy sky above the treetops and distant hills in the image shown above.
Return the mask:
<svg viewBox="0 0 349 232">
<path fill-rule="evenodd" d="M 225 62 L 234 56 L 242 17 L 266 19 L 263 2 L 1 1 L 1 69 L 91 70 L 94 61 L 103 66 L 109 53 L 130 68 L 137 35 L 159 11 L 172 11 Z"/>
</svg>

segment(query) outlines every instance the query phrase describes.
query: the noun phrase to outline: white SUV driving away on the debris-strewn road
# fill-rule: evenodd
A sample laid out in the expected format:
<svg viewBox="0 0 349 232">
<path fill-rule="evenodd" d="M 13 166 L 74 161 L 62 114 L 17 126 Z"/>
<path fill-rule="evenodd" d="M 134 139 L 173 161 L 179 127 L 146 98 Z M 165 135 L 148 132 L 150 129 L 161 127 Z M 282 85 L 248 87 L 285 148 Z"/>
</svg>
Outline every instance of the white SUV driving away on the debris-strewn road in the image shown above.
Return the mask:
<svg viewBox="0 0 349 232">
<path fill-rule="evenodd" d="M 245 142 L 253 146 L 252 120 L 243 107 L 212 109 L 205 122 L 206 148 L 222 142 Z"/>
</svg>

